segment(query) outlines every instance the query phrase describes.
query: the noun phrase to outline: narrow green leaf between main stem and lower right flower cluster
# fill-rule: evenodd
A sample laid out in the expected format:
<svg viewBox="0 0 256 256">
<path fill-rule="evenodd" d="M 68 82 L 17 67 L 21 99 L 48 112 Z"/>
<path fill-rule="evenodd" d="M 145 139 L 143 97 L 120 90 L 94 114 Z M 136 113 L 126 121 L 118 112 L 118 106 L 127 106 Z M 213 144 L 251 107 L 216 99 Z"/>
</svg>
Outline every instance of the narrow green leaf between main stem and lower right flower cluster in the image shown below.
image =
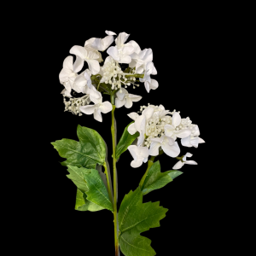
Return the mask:
<svg viewBox="0 0 256 256">
<path fill-rule="evenodd" d="M 131 122 L 131 124 L 134 123 L 134 122 Z M 129 124 L 129 125 L 131 125 Z M 127 125 L 125 127 L 125 131 L 123 132 L 123 135 L 122 137 L 120 138 L 119 140 L 119 143 L 115 149 L 115 158 L 116 160 L 119 159 L 120 155 L 123 154 L 127 148 L 131 145 L 131 143 L 134 142 L 134 140 L 139 136 L 139 133 L 136 132 L 135 134 L 131 135 L 129 132 L 128 132 L 128 126 Z"/>
</svg>

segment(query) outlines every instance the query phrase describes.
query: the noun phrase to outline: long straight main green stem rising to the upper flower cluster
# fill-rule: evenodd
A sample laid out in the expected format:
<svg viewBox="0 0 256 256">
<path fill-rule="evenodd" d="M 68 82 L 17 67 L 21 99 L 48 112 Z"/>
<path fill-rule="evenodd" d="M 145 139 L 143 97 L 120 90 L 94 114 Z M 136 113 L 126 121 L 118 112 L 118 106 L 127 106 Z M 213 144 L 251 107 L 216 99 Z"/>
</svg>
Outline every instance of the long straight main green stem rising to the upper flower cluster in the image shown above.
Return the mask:
<svg viewBox="0 0 256 256">
<path fill-rule="evenodd" d="M 116 159 L 115 159 L 115 136 L 114 136 L 114 94 L 111 94 L 112 103 L 112 145 L 113 145 L 113 225 L 114 225 L 114 248 L 115 256 L 119 256 L 119 226 L 118 226 L 118 215 L 117 215 L 117 173 L 116 173 Z"/>
</svg>

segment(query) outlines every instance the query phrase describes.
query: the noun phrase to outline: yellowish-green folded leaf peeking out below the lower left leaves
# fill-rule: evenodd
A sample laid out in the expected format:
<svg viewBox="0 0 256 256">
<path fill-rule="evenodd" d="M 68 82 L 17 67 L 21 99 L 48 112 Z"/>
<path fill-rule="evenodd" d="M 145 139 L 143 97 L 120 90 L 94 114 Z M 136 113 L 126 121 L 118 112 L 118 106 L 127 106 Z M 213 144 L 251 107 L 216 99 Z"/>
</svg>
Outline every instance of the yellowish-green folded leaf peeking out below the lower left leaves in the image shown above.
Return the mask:
<svg viewBox="0 0 256 256">
<path fill-rule="evenodd" d="M 76 196 L 76 205 L 75 209 L 78 211 L 90 211 L 90 212 L 97 212 L 101 211 L 104 208 L 97 206 L 95 203 L 87 200 L 87 195 L 77 189 L 77 196 Z"/>
</svg>

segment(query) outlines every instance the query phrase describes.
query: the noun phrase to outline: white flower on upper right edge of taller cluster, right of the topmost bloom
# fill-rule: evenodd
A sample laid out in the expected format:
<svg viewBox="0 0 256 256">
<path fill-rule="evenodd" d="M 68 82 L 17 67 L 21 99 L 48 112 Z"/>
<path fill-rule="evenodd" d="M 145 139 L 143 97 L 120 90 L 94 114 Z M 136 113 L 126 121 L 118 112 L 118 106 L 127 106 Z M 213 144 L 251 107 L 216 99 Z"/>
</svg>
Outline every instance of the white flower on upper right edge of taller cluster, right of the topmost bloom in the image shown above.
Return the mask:
<svg viewBox="0 0 256 256">
<path fill-rule="evenodd" d="M 134 43 L 132 43 L 132 44 L 134 44 Z M 134 44 L 134 46 L 136 44 Z M 138 48 L 137 48 L 137 51 L 138 51 Z M 131 59 L 132 59 L 132 61 L 129 64 L 129 67 L 135 67 L 136 73 L 143 73 L 146 69 L 148 62 L 153 61 L 152 49 L 149 48 L 149 49 L 140 50 L 140 52 L 138 54 L 136 52 L 134 52 L 131 55 Z"/>
</svg>

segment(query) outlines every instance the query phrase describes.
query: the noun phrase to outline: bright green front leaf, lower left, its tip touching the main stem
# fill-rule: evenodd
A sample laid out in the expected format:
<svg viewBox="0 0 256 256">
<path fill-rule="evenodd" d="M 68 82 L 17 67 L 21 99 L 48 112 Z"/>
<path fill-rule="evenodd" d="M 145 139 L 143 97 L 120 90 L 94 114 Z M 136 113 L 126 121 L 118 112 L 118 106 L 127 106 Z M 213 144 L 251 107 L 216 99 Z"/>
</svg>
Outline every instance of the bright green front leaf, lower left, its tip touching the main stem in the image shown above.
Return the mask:
<svg viewBox="0 0 256 256">
<path fill-rule="evenodd" d="M 84 174 L 84 178 L 89 188 L 89 191 L 86 192 L 87 200 L 113 212 L 112 203 L 108 196 L 108 190 L 102 182 L 99 172 L 91 169 L 90 173 Z"/>
</svg>

